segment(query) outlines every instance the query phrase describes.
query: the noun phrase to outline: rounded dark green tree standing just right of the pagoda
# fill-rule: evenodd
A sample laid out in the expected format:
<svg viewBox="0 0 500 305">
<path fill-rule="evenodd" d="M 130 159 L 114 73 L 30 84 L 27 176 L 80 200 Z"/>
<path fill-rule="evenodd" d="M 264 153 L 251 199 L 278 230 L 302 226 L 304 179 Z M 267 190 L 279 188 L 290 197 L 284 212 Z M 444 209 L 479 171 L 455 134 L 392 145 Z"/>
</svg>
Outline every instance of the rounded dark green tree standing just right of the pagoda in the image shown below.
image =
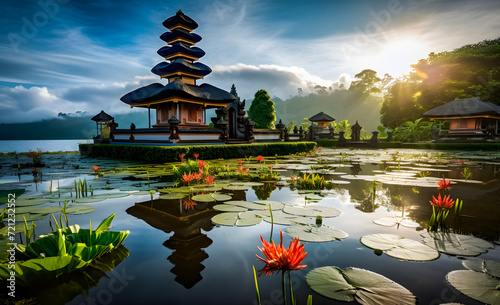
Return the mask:
<svg viewBox="0 0 500 305">
<path fill-rule="evenodd" d="M 274 128 L 276 122 L 274 102 L 266 90 L 261 89 L 255 93 L 248 109 L 248 116 L 255 122 L 255 128 Z"/>
</svg>

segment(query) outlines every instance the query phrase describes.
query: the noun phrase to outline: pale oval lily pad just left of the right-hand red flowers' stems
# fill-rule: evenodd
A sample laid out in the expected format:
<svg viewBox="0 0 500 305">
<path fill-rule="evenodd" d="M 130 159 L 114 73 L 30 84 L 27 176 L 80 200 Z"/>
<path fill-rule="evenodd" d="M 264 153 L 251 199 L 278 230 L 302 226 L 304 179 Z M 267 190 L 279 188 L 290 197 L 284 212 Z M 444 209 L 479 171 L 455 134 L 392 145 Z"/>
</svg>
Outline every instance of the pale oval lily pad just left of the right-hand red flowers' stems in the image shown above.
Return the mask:
<svg viewBox="0 0 500 305">
<path fill-rule="evenodd" d="M 374 250 L 382 250 L 389 256 L 408 261 L 431 261 L 439 257 L 435 249 L 413 239 L 396 234 L 369 234 L 360 242 Z"/>
</svg>

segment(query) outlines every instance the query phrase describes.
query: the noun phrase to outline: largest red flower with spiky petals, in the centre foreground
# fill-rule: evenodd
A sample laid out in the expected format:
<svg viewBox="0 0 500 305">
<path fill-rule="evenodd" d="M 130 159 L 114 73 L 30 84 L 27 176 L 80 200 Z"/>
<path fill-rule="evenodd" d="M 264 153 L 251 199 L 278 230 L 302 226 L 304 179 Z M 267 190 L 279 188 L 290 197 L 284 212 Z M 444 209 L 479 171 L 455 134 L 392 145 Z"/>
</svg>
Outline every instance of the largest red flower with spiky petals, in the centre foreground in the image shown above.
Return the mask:
<svg viewBox="0 0 500 305">
<path fill-rule="evenodd" d="M 259 257 L 257 254 L 256 256 L 265 262 L 266 265 L 260 270 L 259 275 L 263 273 L 269 275 L 274 272 L 299 270 L 307 267 L 307 265 L 300 265 L 306 257 L 307 252 L 304 252 L 304 245 L 300 245 L 298 238 L 294 238 L 290 242 L 288 249 L 283 247 L 282 231 L 280 231 L 280 243 L 277 246 L 274 244 L 274 241 L 271 241 L 271 243 L 265 241 L 262 235 L 260 236 L 260 240 L 262 241 L 263 248 L 257 248 L 266 256 L 266 259 Z"/>
</svg>

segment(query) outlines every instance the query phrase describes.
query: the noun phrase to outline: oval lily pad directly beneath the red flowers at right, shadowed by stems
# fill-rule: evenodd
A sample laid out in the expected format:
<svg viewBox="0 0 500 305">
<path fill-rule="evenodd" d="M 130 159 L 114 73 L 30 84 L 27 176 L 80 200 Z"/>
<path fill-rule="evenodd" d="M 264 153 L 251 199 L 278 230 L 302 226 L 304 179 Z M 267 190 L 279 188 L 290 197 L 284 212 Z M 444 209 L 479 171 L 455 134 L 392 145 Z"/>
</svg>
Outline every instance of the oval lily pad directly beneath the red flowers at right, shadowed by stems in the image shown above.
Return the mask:
<svg viewBox="0 0 500 305">
<path fill-rule="evenodd" d="M 494 247 L 492 243 L 471 235 L 426 232 L 421 236 L 424 244 L 451 255 L 477 256 Z"/>
</svg>

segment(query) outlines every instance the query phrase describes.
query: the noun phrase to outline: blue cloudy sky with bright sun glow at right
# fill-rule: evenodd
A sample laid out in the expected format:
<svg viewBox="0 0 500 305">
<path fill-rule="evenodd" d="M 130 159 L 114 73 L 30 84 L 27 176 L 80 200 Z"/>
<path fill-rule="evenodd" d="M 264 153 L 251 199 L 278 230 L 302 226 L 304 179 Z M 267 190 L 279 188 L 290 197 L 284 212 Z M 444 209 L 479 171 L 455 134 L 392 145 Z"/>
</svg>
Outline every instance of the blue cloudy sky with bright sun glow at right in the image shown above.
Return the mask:
<svg viewBox="0 0 500 305">
<path fill-rule="evenodd" d="M 249 101 L 348 86 L 363 69 L 398 77 L 430 52 L 500 36 L 498 0 L 4 0 L 0 123 L 141 111 L 120 97 L 165 84 L 150 70 L 179 9 L 213 70 L 198 84 L 234 83 Z"/>
</svg>

